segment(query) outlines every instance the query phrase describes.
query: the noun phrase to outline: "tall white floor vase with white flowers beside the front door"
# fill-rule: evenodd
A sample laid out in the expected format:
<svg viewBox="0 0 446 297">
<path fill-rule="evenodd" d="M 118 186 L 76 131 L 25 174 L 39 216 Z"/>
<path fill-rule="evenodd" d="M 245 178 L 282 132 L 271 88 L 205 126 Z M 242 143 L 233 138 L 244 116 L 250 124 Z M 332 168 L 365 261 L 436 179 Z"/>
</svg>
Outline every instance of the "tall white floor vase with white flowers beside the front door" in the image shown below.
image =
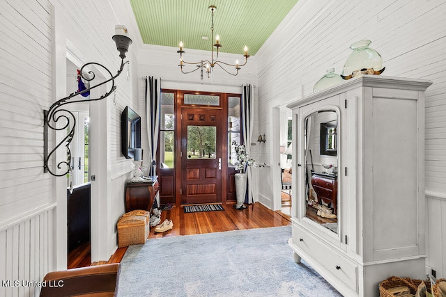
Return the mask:
<svg viewBox="0 0 446 297">
<path fill-rule="evenodd" d="M 246 185 L 247 185 L 246 171 L 248 166 L 256 165 L 256 160 L 248 158 L 245 145 L 238 145 L 235 141 L 232 142 L 232 145 L 235 145 L 236 156 L 237 156 L 237 163 L 235 164 L 235 166 L 236 170 L 238 170 L 238 173 L 236 173 L 235 176 L 237 204 L 234 205 L 234 208 L 242 210 L 246 208 L 245 204 L 243 204 L 243 202 L 245 202 Z"/>
</svg>

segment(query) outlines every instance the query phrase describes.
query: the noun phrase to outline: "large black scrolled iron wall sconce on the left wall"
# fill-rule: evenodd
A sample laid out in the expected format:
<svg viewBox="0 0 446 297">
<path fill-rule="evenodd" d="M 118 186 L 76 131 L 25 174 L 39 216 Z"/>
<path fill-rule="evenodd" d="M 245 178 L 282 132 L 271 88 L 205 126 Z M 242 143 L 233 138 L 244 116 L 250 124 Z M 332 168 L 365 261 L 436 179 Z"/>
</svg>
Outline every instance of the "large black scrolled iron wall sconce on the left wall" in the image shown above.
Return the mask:
<svg viewBox="0 0 446 297">
<path fill-rule="evenodd" d="M 108 97 L 110 94 L 112 94 L 114 92 L 114 90 L 116 90 L 116 86 L 114 84 L 114 79 L 116 79 L 116 77 L 118 77 L 119 74 L 121 74 L 121 72 L 123 72 L 124 65 L 130 63 L 130 61 L 124 62 L 124 58 L 125 58 L 125 53 L 128 51 L 128 48 L 129 48 L 130 44 L 132 43 L 132 40 L 128 37 L 127 29 L 125 28 L 125 26 L 122 26 L 122 25 L 118 25 L 115 27 L 115 35 L 112 37 L 112 39 L 114 40 L 114 42 L 116 42 L 116 49 L 118 49 L 119 56 L 121 57 L 121 67 L 119 68 L 118 73 L 116 73 L 116 75 L 113 75 L 112 72 L 110 72 L 107 69 L 107 67 L 105 67 L 104 65 L 101 65 L 99 63 L 90 62 L 90 63 L 84 64 L 81 67 L 79 75 L 85 81 L 93 81 L 93 79 L 95 79 L 95 74 L 92 71 L 88 72 L 88 74 L 89 74 L 88 77 L 84 77 L 83 70 L 85 67 L 88 67 L 89 65 L 98 65 L 98 66 L 102 67 L 103 69 L 107 70 L 110 78 L 107 79 L 106 81 L 102 81 L 101 83 L 98 83 L 95 86 L 86 88 L 85 90 L 78 90 L 75 93 L 71 93 L 67 97 L 62 98 L 59 101 L 52 104 L 52 106 L 49 107 L 48 110 L 43 111 L 43 172 L 49 172 L 50 174 L 52 174 L 56 177 L 61 177 L 61 176 L 66 175 L 68 172 L 71 172 L 71 170 L 72 170 L 70 143 L 72 141 L 73 136 L 75 135 L 76 120 L 75 120 L 75 116 L 70 111 L 68 111 L 67 109 L 61 109 L 61 106 L 65 105 L 65 104 L 75 103 L 75 102 L 98 101 L 98 100 L 104 99 L 105 97 Z M 100 97 L 93 98 L 93 99 L 91 99 L 91 98 L 90 99 L 80 99 L 79 98 L 77 100 L 68 101 L 69 99 L 71 99 L 72 97 L 75 97 L 77 95 L 89 93 L 90 90 L 92 90 L 93 88 L 102 86 L 103 84 L 108 83 L 109 81 L 112 81 L 111 88 L 109 90 L 107 90 L 107 92 L 104 95 L 101 95 Z M 70 119 L 70 117 L 72 117 L 72 118 Z M 61 119 L 64 119 L 64 120 L 62 120 L 64 125 L 62 125 L 63 127 L 57 127 L 57 122 Z M 72 125 L 70 125 L 70 120 L 72 120 Z M 70 131 L 68 131 L 68 135 L 65 138 L 63 138 L 63 140 L 60 143 L 58 143 L 54 147 L 54 149 L 52 149 L 51 152 L 49 152 L 49 153 L 48 153 L 48 128 L 52 129 L 54 131 L 70 129 Z M 67 166 L 67 170 L 61 174 L 58 174 L 55 172 L 55 170 L 53 171 L 49 168 L 48 162 L 49 162 L 49 159 L 52 156 L 52 154 L 54 154 L 54 152 L 56 152 L 56 150 L 59 147 L 61 147 L 61 145 L 63 145 L 63 144 L 65 144 L 65 146 L 67 148 L 67 160 L 60 161 L 59 163 L 57 163 L 57 168 L 62 169 L 61 166 L 65 165 L 65 166 Z M 70 174 L 70 177 L 72 177 L 72 174 Z"/>
</svg>

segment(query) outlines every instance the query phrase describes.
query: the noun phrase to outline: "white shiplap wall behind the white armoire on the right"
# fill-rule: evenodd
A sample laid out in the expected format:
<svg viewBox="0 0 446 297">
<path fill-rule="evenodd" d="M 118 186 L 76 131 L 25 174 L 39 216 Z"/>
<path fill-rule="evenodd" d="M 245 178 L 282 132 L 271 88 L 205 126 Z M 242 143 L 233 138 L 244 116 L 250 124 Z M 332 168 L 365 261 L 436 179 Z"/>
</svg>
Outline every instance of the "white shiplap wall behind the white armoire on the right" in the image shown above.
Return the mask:
<svg viewBox="0 0 446 297">
<path fill-rule="evenodd" d="M 259 130 L 270 125 L 269 106 L 312 93 L 348 48 L 362 39 L 383 56 L 386 76 L 429 79 L 426 91 L 426 192 L 429 205 L 427 266 L 446 276 L 446 2 L 443 0 L 300 0 L 256 54 Z M 297 94 L 295 94 L 297 92 Z M 266 146 L 265 161 L 270 152 Z M 262 193 L 259 193 L 260 195 Z M 443 207 L 443 208 L 440 208 Z M 435 230 L 433 232 L 432 230 Z M 437 236 L 434 236 L 437 234 Z"/>
</svg>

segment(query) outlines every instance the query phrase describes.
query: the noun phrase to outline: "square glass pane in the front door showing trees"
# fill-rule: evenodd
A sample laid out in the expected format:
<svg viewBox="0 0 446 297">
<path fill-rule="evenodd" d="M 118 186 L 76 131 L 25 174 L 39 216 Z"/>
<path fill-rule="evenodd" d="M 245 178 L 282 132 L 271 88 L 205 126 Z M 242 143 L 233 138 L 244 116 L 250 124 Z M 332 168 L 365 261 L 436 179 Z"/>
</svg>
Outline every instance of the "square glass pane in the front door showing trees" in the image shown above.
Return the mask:
<svg viewBox="0 0 446 297">
<path fill-rule="evenodd" d="M 187 159 L 215 159 L 217 127 L 187 127 Z"/>
</svg>

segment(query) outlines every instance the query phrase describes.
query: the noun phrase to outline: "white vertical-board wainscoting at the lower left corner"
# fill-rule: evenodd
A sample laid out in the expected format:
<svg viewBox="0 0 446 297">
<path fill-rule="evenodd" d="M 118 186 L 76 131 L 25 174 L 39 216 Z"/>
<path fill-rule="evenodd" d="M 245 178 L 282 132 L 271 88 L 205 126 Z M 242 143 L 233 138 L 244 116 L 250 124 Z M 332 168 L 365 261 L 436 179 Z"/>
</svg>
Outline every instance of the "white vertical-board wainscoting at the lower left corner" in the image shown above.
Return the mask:
<svg viewBox="0 0 446 297">
<path fill-rule="evenodd" d="M 0 296 L 38 296 L 52 267 L 53 209 L 0 232 Z"/>
</svg>

